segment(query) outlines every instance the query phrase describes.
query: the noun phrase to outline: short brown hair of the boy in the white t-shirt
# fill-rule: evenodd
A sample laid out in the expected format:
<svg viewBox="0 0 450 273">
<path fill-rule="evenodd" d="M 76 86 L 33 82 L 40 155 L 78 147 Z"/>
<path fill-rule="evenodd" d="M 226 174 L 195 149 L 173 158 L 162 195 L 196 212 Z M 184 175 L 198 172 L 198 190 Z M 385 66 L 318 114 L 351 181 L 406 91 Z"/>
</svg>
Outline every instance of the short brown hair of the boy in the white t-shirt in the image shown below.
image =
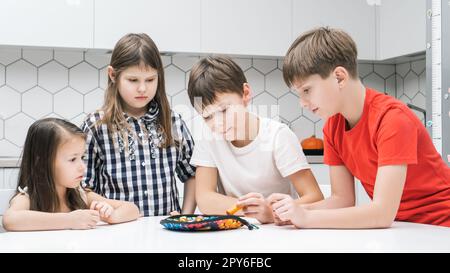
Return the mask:
<svg viewBox="0 0 450 273">
<path fill-rule="evenodd" d="M 208 56 L 199 60 L 191 70 L 188 95 L 192 106 L 194 98 L 201 97 L 201 108 L 214 103 L 218 93 L 243 94 L 247 82 L 244 72 L 227 56 Z"/>
</svg>

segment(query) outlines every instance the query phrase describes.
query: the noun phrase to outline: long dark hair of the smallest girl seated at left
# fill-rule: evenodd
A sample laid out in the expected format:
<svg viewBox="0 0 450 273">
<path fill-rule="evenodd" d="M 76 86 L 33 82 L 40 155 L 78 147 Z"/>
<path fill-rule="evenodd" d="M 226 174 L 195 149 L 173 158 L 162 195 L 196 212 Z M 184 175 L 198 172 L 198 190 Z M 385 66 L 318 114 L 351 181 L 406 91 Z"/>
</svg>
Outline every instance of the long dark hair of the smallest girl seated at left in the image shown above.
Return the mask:
<svg viewBox="0 0 450 273">
<path fill-rule="evenodd" d="M 56 192 L 54 162 L 56 151 L 67 135 L 83 139 L 86 137 L 80 128 L 58 118 L 38 120 L 28 129 L 22 152 L 18 187 L 22 189 L 27 187 L 30 210 L 57 212 L 60 208 L 60 202 L 63 200 L 59 200 Z M 71 210 L 87 208 L 78 189 L 68 188 L 64 201 Z"/>
</svg>

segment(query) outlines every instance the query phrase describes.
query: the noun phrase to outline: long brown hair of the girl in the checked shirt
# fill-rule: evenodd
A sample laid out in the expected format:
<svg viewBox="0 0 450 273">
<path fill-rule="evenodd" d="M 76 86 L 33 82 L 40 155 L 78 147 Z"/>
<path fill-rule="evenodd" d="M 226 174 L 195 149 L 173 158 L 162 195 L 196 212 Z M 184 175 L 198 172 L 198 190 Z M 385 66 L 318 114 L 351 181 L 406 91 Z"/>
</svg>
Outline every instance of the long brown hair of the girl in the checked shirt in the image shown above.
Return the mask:
<svg viewBox="0 0 450 273">
<path fill-rule="evenodd" d="M 110 134 L 119 131 L 122 134 L 122 139 L 128 145 L 127 130 L 122 129 L 129 128 L 130 125 L 123 116 L 124 101 L 117 87 L 119 77 L 129 67 L 146 66 L 156 69 L 158 73 L 158 87 L 153 100 L 159 106 L 158 124 L 164 137 L 161 145 L 167 147 L 173 144 L 172 115 L 166 96 L 164 67 L 159 50 L 153 40 L 145 33 L 129 33 L 123 36 L 113 49 L 110 65 L 114 69 L 116 80 L 113 82 L 108 77 L 108 88 L 106 89 L 105 102 L 102 106 L 104 116 L 101 120 L 102 123 L 107 125 Z"/>
</svg>

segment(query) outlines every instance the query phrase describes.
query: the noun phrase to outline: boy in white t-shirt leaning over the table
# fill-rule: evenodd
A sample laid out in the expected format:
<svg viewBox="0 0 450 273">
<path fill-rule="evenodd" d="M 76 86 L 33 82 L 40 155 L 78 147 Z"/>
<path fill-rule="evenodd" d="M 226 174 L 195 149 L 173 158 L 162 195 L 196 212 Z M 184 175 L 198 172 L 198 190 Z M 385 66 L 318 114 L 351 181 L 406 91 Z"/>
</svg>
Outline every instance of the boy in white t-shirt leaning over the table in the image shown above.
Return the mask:
<svg viewBox="0 0 450 273">
<path fill-rule="evenodd" d="M 196 63 L 188 94 L 208 125 L 190 161 L 197 166 L 201 212 L 224 214 L 237 205 L 241 215 L 283 224 L 274 219 L 266 200 L 270 194 L 300 196 L 298 203 L 323 199 L 295 134 L 285 124 L 248 112 L 250 86 L 230 58 L 210 56 Z"/>
</svg>

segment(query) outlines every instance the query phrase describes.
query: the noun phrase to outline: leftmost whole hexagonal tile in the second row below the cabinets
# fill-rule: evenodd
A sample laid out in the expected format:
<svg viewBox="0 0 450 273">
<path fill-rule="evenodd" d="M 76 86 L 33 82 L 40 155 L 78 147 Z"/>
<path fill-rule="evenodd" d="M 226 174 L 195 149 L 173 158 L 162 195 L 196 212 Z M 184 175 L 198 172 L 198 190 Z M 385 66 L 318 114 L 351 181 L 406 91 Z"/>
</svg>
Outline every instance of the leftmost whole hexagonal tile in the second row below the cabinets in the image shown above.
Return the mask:
<svg viewBox="0 0 450 273">
<path fill-rule="evenodd" d="M 36 67 L 20 60 L 6 67 L 6 84 L 23 92 L 37 84 Z"/>
</svg>

